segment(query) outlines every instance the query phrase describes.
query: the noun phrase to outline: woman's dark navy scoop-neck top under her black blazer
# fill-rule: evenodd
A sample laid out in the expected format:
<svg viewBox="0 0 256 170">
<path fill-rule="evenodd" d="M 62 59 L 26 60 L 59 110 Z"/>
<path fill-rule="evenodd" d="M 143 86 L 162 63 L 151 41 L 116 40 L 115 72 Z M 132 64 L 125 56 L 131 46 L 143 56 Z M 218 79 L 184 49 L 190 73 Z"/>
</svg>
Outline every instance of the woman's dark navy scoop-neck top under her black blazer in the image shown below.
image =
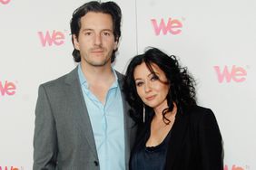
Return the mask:
<svg viewBox="0 0 256 170">
<path fill-rule="evenodd" d="M 146 146 L 150 137 L 150 127 L 142 141 L 135 147 L 130 160 L 130 170 L 163 170 L 167 154 L 167 147 L 172 130 L 169 131 L 162 143 L 158 146 Z"/>
</svg>

